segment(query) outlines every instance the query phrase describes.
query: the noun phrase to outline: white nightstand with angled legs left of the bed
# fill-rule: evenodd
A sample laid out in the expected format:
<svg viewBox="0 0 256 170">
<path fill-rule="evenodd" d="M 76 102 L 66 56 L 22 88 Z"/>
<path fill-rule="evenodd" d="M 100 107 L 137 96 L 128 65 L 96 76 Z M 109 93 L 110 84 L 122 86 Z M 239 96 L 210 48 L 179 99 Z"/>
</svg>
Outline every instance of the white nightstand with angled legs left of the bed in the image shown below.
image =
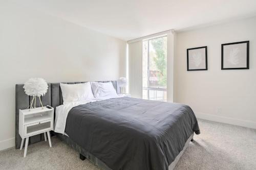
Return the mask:
<svg viewBox="0 0 256 170">
<path fill-rule="evenodd" d="M 19 110 L 19 129 L 18 133 L 22 137 L 22 144 L 20 144 L 20 150 L 23 148 L 24 140 L 26 138 L 24 157 L 26 157 L 29 137 L 40 133 L 44 133 L 45 141 L 46 132 L 48 135 L 49 145 L 52 147 L 50 131 L 53 130 L 53 112 L 54 109 L 41 107 L 25 110 Z"/>
</svg>

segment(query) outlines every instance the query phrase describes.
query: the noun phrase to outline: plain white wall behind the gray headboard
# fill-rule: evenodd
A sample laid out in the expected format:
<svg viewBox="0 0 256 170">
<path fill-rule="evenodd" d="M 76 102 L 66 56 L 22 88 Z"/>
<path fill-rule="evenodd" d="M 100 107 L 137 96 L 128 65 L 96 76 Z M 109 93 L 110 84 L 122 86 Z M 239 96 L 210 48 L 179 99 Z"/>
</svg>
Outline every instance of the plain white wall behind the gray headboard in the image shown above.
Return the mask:
<svg viewBox="0 0 256 170">
<path fill-rule="evenodd" d="M 9 4 L 0 5 L 0 150 L 14 146 L 15 84 L 117 80 L 126 42 Z"/>
</svg>

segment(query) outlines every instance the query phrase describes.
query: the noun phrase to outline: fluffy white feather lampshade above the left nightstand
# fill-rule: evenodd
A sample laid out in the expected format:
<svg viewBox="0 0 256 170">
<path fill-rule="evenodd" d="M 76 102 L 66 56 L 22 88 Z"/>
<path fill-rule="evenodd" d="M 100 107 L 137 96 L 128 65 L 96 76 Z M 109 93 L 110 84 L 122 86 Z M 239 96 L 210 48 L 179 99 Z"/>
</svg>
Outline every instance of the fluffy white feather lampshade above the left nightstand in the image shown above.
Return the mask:
<svg viewBox="0 0 256 170">
<path fill-rule="evenodd" d="M 48 84 L 42 78 L 30 78 L 23 86 L 25 93 L 32 96 L 45 95 L 48 89 Z"/>
</svg>

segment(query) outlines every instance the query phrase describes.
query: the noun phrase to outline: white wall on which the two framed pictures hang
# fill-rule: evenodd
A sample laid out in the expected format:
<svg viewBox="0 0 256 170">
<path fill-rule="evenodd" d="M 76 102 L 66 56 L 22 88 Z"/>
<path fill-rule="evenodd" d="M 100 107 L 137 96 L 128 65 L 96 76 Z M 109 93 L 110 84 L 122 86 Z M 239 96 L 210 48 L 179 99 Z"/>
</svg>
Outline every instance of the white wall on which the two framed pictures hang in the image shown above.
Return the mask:
<svg viewBox="0 0 256 170">
<path fill-rule="evenodd" d="M 197 117 L 256 128 L 256 17 L 177 34 L 174 101 Z M 221 70 L 221 44 L 250 41 L 250 69 Z M 186 49 L 207 46 L 208 70 L 186 71 Z M 217 113 L 221 108 L 221 113 Z"/>
</svg>

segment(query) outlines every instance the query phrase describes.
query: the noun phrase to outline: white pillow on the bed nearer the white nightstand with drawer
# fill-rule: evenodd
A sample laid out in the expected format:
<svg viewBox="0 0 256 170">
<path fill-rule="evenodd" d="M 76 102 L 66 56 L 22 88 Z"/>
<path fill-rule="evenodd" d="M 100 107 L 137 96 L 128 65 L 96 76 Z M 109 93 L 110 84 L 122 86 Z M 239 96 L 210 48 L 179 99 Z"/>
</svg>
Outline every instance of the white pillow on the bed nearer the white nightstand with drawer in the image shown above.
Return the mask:
<svg viewBox="0 0 256 170">
<path fill-rule="evenodd" d="M 60 83 L 63 104 L 94 99 L 90 82 L 79 84 Z"/>
</svg>

